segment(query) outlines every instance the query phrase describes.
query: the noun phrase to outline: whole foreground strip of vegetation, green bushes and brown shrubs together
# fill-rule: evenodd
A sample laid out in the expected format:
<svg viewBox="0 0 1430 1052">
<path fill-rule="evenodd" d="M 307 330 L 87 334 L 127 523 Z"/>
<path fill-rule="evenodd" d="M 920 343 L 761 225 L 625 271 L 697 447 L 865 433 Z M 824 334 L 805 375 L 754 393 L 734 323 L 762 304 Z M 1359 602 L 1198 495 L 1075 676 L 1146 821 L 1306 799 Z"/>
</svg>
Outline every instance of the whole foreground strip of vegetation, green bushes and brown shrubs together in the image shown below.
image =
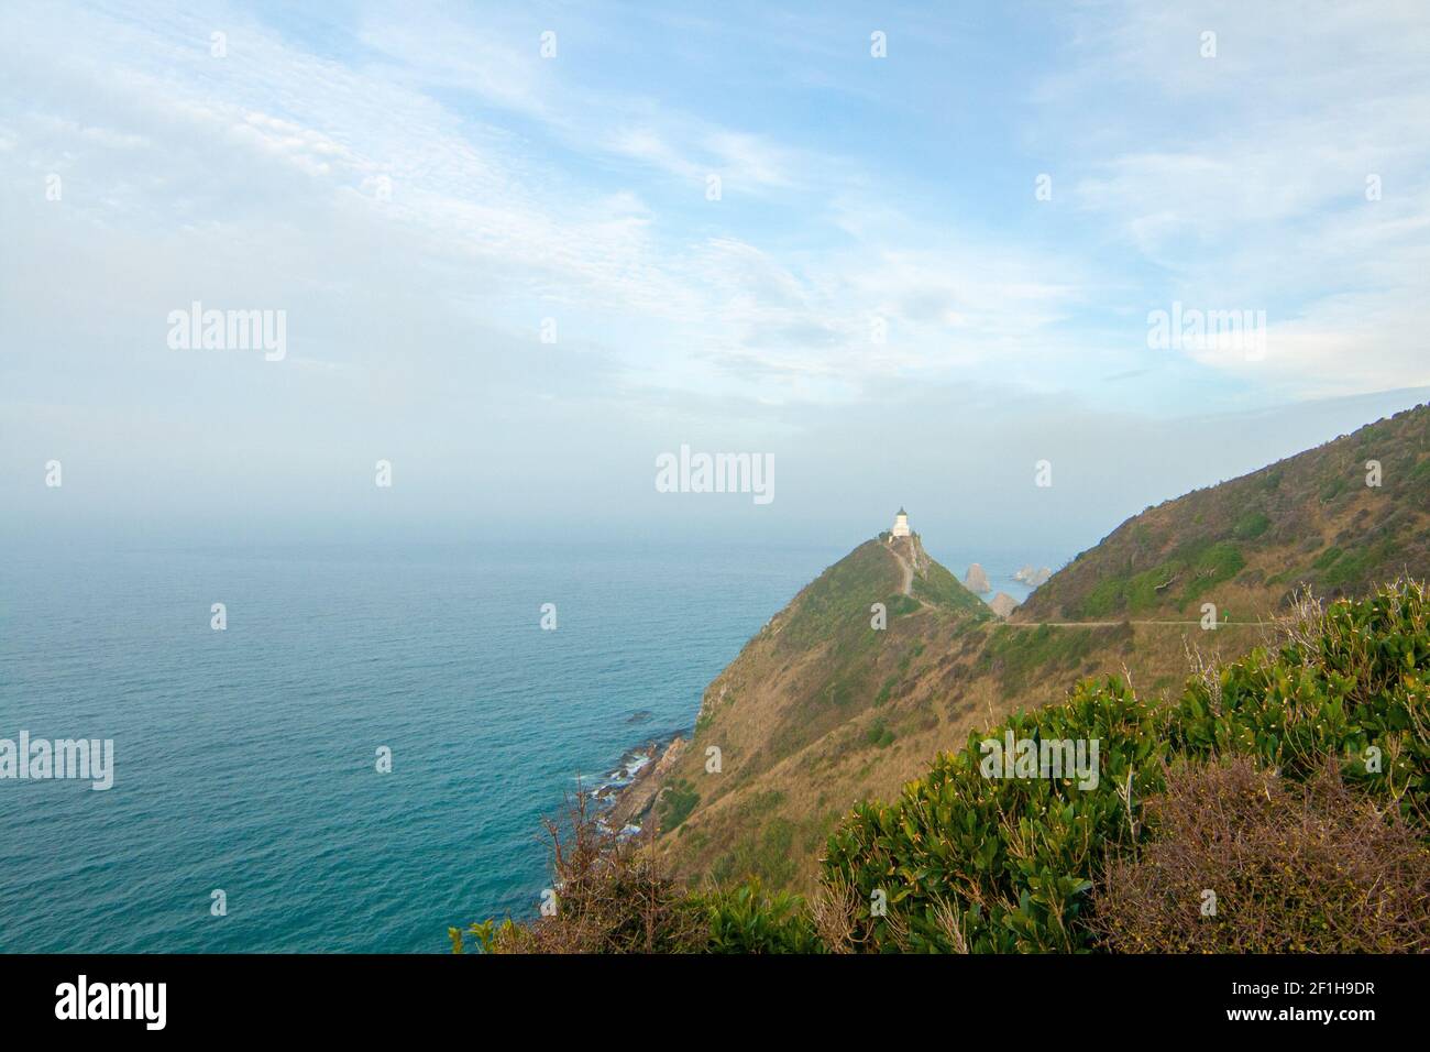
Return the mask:
<svg viewBox="0 0 1430 1052">
<path fill-rule="evenodd" d="M 1084 680 L 974 729 L 891 803 L 844 816 L 808 902 L 692 890 L 649 834 L 602 834 L 578 803 L 551 829 L 559 910 L 452 927 L 453 949 L 1430 950 L 1426 587 L 1301 601 L 1270 643 L 1165 701 Z M 995 774 L 982 740 L 1005 734 L 1101 749 L 1075 776 Z"/>
</svg>

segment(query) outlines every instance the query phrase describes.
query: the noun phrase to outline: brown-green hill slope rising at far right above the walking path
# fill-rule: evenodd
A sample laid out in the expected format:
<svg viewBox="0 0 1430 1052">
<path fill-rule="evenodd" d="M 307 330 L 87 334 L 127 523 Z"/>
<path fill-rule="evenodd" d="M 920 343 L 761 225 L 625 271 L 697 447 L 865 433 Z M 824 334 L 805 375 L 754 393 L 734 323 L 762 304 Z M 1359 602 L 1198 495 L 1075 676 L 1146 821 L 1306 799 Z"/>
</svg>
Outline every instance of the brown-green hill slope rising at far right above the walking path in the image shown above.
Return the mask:
<svg viewBox="0 0 1430 1052">
<path fill-rule="evenodd" d="M 1367 485 L 1379 461 L 1380 485 Z M 1430 565 L 1430 406 L 1148 508 L 1038 588 L 1015 621 L 1233 615 L 1296 590 L 1360 595 Z"/>
</svg>

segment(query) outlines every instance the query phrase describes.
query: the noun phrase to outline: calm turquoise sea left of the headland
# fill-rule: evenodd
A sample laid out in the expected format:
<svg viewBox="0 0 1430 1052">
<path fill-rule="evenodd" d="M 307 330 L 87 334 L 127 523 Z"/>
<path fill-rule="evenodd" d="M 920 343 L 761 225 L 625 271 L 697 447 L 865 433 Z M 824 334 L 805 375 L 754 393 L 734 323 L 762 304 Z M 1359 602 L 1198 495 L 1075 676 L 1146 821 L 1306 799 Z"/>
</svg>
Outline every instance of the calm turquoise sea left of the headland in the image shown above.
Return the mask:
<svg viewBox="0 0 1430 1052">
<path fill-rule="evenodd" d="M 531 915 L 578 774 L 689 727 L 844 554 L 10 552 L 0 737 L 113 739 L 116 773 L 0 781 L 0 950 L 442 952 L 448 925 Z"/>
</svg>

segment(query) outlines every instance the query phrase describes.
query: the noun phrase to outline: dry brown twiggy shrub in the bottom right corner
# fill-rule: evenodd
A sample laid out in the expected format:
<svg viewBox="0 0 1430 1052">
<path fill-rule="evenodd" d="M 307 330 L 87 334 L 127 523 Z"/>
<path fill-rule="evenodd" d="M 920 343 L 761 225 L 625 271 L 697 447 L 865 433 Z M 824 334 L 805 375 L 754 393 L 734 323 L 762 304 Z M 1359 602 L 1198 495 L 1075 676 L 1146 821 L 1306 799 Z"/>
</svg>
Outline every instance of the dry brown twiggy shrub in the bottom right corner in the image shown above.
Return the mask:
<svg viewBox="0 0 1430 1052">
<path fill-rule="evenodd" d="M 1430 950 L 1430 849 L 1334 761 L 1306 784 L 1246 757 L 1168 771 L 1147 816 L 1153 842 L 1113 862 L 1093 899 L 1114 952 Z"/>
</svg>

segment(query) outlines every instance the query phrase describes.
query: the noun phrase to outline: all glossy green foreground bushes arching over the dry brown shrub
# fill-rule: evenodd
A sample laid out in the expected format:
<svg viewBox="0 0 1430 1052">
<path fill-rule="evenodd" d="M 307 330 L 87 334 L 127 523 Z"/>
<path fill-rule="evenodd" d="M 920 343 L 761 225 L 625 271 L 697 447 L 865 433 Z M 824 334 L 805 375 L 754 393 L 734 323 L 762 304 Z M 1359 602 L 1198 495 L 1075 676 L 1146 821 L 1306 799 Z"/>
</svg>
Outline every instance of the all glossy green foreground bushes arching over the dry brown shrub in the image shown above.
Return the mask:
<svg viewBox="0 0 1430 1052">
<path fill-rule="evenodd" d="M 978 741 L 941 754 L 891 804 L 854 809 L 829 837 L 827 882 L 855 892 L 855 942 L 884 950 L 1085 950 L 1088 892 L 1147 837 L 1144 802 L 1175 759 L 1248 756 L 1293 780 L 1344 757 L 1348 784 L 1396 806 L 1417 834 L 1430 789 L 1426 590 L 1400 583 L 1324 613 L 1307 604 L 1287 641 L 1194 676 L 1174 707 L 1121 680 L 1012 716 L 987 737 L 1097 739 L 1100 781 L 985 779 Z M 882 892 L 887 915 L 872 903 Z"/>
</svg>

